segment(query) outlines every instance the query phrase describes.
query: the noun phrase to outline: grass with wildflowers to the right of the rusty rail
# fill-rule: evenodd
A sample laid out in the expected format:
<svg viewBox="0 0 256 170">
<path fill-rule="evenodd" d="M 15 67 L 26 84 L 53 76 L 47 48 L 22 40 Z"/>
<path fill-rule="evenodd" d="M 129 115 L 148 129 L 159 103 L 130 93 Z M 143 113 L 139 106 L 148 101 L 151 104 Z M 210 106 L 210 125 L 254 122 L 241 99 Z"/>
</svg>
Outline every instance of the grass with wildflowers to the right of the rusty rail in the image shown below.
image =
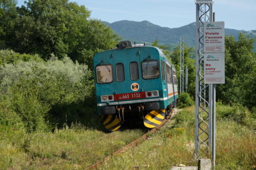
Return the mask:
<svg viewBox="0 0 256 170">
<path fill-rule="evenodd" d="M 216 169 L 253 169 L 256 165 L 256 137 L 252 125 L 222 116 L 230 106 L 218 106 Z M 240 108 L 240 110 L 243 110 Z M 98 169 L 168 169 L 173 165 L 197 165 L 195 150 L 195 109 L 189 107 L 176 115 L 176 123 L 167 125 L 135 148 L 112 157 Z M 221 114 L 221 115 L 219 115 Z M 241 114 L 245 114 L 242 113 Z M 245 119 L 249 118 L 248 112 Z M 248 126 L 247 126 L 248 125 Z M 206 157 L 207 156 L 203 156 Z"/>
</svg>

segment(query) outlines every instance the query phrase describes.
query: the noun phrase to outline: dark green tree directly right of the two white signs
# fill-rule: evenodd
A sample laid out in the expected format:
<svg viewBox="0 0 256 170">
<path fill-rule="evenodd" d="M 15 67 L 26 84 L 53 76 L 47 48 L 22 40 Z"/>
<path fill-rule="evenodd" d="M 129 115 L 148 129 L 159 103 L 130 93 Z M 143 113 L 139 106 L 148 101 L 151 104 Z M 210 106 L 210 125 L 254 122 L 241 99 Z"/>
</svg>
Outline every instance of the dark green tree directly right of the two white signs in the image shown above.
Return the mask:
<svg viewBox="0 0 256 170">
<path fill-rule="evenodd" d="M 239 103 L 249 108 L 256 106 L 256 55 L 254 39 L 240 34 L 225 37 L 225 84 L 217 86 L 217 99 L 226 104 Z"/>
</svg>

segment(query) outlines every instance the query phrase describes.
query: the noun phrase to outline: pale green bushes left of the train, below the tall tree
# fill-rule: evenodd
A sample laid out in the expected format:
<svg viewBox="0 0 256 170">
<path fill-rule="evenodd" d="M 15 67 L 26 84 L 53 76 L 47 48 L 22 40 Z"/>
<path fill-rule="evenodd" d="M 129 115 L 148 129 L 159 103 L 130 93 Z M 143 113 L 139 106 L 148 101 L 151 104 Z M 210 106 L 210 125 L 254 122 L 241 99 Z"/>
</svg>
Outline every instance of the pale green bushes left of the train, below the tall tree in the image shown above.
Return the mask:
<svg viewBox="0 0 256 170">
<path fill-rule="evenodd" d="M 96 110 L 92 72 L 86 65 L 66 57 L 20 61 L 2 65 L 0 70 L 0 124 L 24 126 L 31 132 L 91 122 L 84 120 L 87 111 L 91 115 Z"/>
</svg>

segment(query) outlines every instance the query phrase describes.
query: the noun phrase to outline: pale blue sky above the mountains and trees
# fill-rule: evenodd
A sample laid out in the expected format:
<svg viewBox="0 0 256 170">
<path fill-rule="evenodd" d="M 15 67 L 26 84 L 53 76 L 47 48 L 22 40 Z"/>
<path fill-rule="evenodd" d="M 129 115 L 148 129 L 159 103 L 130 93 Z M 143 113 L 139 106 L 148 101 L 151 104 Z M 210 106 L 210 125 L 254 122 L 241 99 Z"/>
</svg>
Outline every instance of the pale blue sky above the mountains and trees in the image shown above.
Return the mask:
<svg viewBox="0 0 256 170">
<path fill-rule="evenodd" d="M 53 0 L 54 1 L 54 0 Z M 91 11 L 91 18 L 115 22 L 147 20 L 161 27 L 178 28 L 196 21 L 194 0 L 70 0 Z M 18 0 L 18 6 L 24 0 Z M 214 0 L 216 21 L 225 28 L 256 30 L 256 0 Z"/>
</svg>

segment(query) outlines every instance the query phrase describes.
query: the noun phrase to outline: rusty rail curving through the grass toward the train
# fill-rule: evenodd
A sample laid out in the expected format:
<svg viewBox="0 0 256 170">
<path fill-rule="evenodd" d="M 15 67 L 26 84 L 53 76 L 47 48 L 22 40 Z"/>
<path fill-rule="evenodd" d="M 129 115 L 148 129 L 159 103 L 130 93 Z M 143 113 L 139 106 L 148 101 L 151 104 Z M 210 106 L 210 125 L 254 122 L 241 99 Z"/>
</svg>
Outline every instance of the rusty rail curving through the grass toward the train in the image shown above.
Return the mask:
<svg viewBox="0 0 256 170">
<path fill-rule="evenodd" d="M 120 150 L 116 151 L 115 153 L 113 153 L 112 155 L 109 155 L 103 159 L 101 159 L 100 161 L 96 162 L 95 164 L 87 167 L 86 169 L 94 169 L 96 168 L 98 165 L 102 164 L 103 162 L 107 161 L 108 159 L 110 159 L 111 157 L 117 155 L 117 154 L 120 154 L 121 152 L 124 152 L 125 150 L 131 148 L 131 147 L 134 147 L 134 145 L 136 145 L 138 142 L 141 141 L 141 139 L 146 139 L 147 138 L 147 135 L 149 133 L 154 133 L 156 132 L 157 130 L 159 130 L 168 120 L 170 117 L 173 117 L 175 114 L 177 113 L 177 109 L 173 109 L 172 112 L 167 116 L 166 119 L 163 120 L 163 122 L 157 126 L 156 128 L 153 128 L 151 131 L 145 133 L 144 135 L 142 135 L 141 137 L 139 137 L 138 139 L 132 141 L 131 143 L 127 144 L 125 147 L 121 148 Z"/>
</svg>

